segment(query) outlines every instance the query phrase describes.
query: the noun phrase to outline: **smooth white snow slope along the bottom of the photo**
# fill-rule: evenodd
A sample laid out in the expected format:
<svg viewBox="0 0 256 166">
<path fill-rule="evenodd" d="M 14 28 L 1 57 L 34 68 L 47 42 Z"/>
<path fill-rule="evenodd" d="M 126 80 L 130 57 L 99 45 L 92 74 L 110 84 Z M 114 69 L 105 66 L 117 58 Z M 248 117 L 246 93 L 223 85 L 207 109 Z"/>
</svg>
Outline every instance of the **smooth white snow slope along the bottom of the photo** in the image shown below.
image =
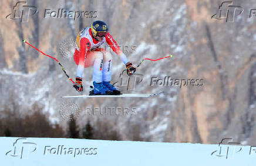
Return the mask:
<svg viewBox="0 0 256 166">
<path fill-rule="evenodd" d="M 254 147 L 223 144 L 220 152 L 218 144 L 0 137 L 0 146 L 0 165 L 235 166 L 256 159 Z"/>
</svg>

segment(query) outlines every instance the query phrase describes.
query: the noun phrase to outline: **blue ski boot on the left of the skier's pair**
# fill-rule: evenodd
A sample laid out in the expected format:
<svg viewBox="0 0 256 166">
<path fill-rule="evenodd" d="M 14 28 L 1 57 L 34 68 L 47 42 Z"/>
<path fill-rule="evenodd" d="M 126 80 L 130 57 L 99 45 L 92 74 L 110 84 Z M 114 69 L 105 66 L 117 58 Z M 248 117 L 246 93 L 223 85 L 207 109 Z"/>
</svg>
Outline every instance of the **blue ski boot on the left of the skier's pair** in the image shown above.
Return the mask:
<svg viewBox="0 0 256 166">
<path fill-rule="evenodd" d="M 109 89 L 103 85 L 102 82 L 96 83 L 93 81 L 93 87 L 90 86 L 90 88 L 93 89 L 90 91 L 89 95 L 112 95 L 112 92 L 109 91 Z"/>
</svg>

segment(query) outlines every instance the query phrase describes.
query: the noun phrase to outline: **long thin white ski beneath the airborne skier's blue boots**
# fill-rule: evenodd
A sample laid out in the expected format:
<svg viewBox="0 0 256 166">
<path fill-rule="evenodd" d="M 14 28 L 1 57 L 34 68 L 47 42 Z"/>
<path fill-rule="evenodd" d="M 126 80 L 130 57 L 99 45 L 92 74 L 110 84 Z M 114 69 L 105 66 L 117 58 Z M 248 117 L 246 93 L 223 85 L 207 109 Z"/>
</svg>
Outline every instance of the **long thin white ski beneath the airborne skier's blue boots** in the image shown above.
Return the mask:
<svg viewBox="0 0 256 166">
<path fill-rule="evenodd" d="M 163 94 L 122 94 L 122 95 L 78 95 L 78 96 L 62 96 L 62 98 L 148 98 Z"/>
</svg>

